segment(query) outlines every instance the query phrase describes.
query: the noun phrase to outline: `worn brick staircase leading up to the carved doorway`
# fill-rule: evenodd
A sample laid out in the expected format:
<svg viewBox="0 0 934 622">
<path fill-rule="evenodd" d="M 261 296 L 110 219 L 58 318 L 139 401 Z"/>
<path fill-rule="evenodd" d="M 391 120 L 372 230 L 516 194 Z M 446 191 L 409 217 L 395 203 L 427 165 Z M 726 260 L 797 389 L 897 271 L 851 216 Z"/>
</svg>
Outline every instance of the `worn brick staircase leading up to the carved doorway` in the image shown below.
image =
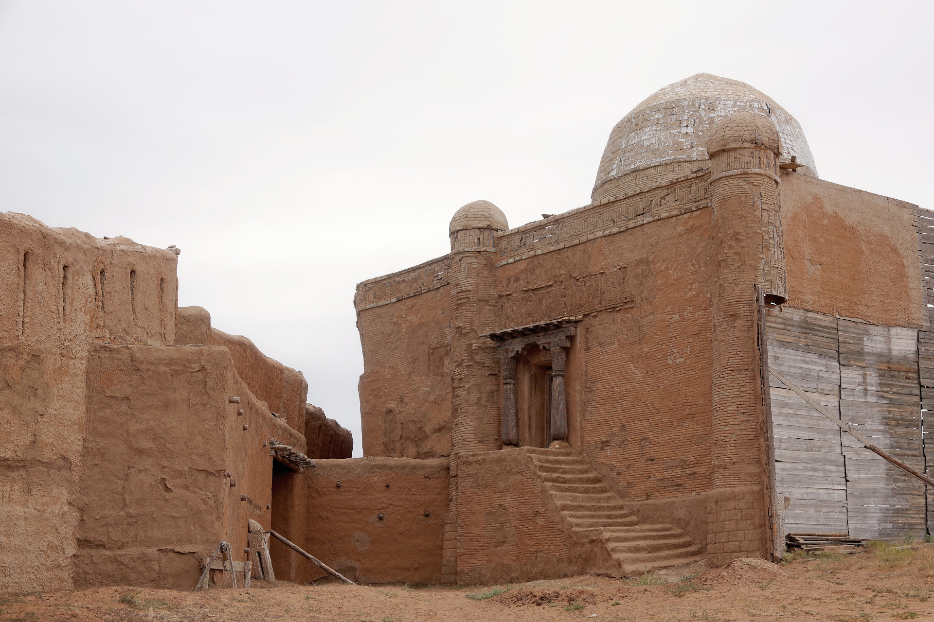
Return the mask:
<svg viewBox="0 0 934 622">
<path fill-rule="evenodd" d="M 573 449 L 523 449 L 571 530 L 601 540 L 622 574 L 635 576 L 706 558 L 703 547 L 674 525 L 639 522 L 587 458 Z"/>
</svg>

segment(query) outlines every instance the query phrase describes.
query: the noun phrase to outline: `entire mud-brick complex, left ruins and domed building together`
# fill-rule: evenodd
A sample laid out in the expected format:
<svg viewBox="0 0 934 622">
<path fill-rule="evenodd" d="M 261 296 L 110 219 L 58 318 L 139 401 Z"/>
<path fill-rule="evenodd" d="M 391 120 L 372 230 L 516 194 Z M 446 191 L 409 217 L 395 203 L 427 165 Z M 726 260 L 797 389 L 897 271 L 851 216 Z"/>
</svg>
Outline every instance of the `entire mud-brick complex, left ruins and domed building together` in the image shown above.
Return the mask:
<svg viewBox="0 0 934 622">
<path fill-rule="evenodd" d="M 822 181 L 794 117 L 708 74 L 616 124 L 591 200 L 518 228 L 474 201 L 448 255 L 358 285 L 357 459 L 300 372 L 177 308 L 175 249 L 0 214 L 0 582 L 193 587 L 249 520 L 352 580 L 460 584 L 928 532 L 924 483 L 770 374 L 925 470 L 927 212 Z"/>
</svg>

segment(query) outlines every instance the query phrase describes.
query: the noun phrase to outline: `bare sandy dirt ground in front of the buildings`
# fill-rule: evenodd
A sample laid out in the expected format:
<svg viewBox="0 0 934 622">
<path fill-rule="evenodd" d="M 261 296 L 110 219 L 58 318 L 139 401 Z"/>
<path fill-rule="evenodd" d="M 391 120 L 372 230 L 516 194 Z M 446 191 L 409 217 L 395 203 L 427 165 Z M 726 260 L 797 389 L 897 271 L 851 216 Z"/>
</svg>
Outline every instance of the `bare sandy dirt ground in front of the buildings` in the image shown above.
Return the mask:
<svg viewBox="0 0 934 622">
<path fill-rule="evenodd" d="M 97 587 L 3 594 L 0 621 L 934 620 L 934 545 L 735 560 L 637 579 L 573 576 L 502 586 L 299 586 L 206 591 Z"/>
</svg>

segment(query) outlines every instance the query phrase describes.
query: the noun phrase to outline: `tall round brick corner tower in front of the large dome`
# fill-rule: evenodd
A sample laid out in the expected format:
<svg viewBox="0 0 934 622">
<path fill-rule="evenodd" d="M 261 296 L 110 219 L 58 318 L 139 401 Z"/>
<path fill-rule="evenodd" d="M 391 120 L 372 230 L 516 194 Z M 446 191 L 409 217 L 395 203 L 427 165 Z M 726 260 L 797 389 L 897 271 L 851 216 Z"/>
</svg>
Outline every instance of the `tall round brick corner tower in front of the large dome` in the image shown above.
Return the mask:
<svg viewBox="0 0 934 622">
<path fill-rule="evenodd" d="M 782 147 L 774 124 L 756 112 L 737 113 L 711 128 L 706 148 L 717 249 L 712 301 L 714 493 L 707 507 L 707 553 L 718 565 L 769 552 L 771 482 L 756 287 L 763 288 L 767 302 L 781 304 L 787 284 L 778 193 Z"/>
</svg>

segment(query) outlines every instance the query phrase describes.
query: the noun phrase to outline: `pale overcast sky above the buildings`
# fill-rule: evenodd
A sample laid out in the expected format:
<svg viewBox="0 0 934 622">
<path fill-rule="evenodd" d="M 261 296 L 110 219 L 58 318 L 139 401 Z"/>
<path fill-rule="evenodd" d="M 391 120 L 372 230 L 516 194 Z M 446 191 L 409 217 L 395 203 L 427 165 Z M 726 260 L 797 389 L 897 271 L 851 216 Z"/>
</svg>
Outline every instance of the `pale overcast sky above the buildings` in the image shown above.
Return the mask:
<svg viewBox="0 0 934 622">
<path fill-rule="evenodd" d="M 934 205 L 932 3 L 0 0 L 0 210 L 177 244 L 179 304 L 354 433 L 356 283 L 589 202 L 617 120 L 699 72 L 823 179 Z"/>
</svg>

